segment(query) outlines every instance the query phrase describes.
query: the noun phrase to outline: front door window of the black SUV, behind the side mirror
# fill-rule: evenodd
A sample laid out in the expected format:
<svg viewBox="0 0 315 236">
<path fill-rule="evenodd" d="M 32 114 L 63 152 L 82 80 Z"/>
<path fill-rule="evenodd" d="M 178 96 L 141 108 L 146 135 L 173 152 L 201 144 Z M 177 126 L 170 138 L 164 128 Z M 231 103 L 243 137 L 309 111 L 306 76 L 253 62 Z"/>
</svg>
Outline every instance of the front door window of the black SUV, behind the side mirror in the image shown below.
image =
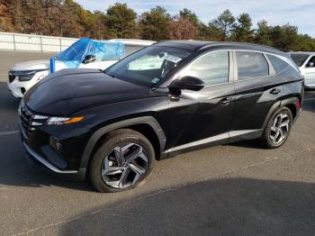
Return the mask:
<svg viewBox="0 0 315 236">
<path fill-rule="evenodd" d="M 198 77 L 206 86 L 229 81 L 229 52 L 216 51 L 203 55 L 184 68 L 182 76 Z"/>
</svg>

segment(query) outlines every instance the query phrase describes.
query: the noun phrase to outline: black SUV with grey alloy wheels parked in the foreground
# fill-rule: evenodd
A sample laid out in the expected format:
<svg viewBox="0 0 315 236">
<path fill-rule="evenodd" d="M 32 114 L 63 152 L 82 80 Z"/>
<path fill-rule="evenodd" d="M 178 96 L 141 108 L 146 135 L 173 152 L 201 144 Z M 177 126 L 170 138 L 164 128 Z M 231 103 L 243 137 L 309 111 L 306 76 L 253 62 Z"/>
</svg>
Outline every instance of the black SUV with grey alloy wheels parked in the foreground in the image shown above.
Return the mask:
<svg viewBox="0 0 315 236">
<path fill-rule="evenodd" d="M 183 151 L 252 139 L 281 146 L 302 97 L 303 78 L 284 52 L 162 41 L 104 71 L 49 75 L 24 96 L 20 129 L 30 159 L 115 192 Z"/>
</svg>

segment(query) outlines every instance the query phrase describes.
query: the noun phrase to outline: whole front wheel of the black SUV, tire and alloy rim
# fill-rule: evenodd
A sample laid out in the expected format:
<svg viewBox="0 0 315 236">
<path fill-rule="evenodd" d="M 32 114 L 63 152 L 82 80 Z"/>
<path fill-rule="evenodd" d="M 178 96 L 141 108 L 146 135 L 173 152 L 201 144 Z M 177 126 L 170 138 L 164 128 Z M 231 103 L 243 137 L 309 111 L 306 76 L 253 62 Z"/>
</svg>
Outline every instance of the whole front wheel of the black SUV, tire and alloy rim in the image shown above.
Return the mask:
<svg viewBox="0 0 315 236">
<path fill-rule="evenodd" d="M 155 152 L 139 132 L 121 129 L 107 135 L 89 165 L 89 177 L 99 192 L 138 186 L 152 171 Z"/>
</svg>

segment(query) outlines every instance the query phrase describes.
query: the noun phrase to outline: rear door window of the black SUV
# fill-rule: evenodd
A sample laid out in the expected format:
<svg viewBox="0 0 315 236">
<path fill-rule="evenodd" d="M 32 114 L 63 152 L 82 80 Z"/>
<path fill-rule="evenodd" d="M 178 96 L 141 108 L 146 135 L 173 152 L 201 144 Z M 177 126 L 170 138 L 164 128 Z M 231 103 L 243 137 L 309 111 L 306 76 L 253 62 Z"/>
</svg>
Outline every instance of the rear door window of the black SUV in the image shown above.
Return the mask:
<svg viewBox="0 0 315 236">
<path fill-rule="evenodd" d="M 236 56 L 238 60 L 238 80 L 269 75 L 268 63 L 262 53 L 236 51 Z"/>
</svg>

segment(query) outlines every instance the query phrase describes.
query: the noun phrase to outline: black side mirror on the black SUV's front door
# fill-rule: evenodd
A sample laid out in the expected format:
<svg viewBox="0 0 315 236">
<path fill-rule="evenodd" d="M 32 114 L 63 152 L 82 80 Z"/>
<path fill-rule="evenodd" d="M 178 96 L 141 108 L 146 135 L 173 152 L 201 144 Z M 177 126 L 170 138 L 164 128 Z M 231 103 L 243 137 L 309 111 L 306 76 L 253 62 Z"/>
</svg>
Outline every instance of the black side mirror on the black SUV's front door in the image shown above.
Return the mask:
<svg viewBox="0 0 315 236">
<path fill-rule="evenodd" d="M 171 89 L 199 91 L 203 86 L 203 81 L 198 77 L 182 77 L 181 79 L 175 79 L 168 87 Z"/>
</svg>

